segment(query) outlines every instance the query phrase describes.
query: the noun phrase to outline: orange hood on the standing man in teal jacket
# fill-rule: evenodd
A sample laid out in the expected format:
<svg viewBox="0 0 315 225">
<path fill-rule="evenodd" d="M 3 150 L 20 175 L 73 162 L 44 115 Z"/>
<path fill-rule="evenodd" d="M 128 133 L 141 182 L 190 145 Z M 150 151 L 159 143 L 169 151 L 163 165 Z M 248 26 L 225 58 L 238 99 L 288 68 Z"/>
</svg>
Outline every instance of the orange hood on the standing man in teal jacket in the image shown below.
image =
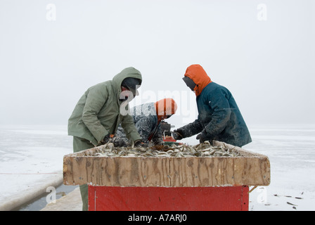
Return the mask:
<svg viewBox="0 0 315 225">
<path fill-rule="evenodd" d="M 205 86 L 212 82 L 203 67 L 198 64 L 188 66 L 184 76 L 191 78 L 197 84 L 193 89 L 196 96 L 199 96 Z"/>
</svg>

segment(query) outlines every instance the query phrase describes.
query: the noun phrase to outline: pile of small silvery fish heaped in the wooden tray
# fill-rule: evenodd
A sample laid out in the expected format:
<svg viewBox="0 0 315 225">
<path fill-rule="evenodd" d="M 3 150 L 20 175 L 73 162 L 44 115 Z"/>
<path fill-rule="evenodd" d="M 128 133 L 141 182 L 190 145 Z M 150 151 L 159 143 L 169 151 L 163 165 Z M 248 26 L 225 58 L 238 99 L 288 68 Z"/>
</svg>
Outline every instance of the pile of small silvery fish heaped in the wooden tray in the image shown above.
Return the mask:
<svg viewBox="0 0 315 225">
<path fill-rule="evenodd" d="M 114 147 L 113 143 L 98 147 L 95 156 L 105 157 L 237 157 L 233 149 L 211 146 L 208 141 L 196 146 L 172 145 L 141 147 Z"/>
</svg>

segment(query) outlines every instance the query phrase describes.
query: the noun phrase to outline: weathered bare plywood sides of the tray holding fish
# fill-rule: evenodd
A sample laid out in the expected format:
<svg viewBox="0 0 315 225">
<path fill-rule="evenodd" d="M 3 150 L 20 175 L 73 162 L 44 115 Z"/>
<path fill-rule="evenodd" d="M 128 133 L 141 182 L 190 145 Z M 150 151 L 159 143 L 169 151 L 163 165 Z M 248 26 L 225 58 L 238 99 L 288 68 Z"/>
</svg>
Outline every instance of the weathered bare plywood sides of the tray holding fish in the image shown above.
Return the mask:
<svg viewBox="0 0 315 225">
<path fill-rule="evenodd" d="M 63 184 L 120 187 L 268 186 L 265 155 L 216 141 L 238 157 L 100 157 L 100 147 L 65 155 Z"/>
</svg>

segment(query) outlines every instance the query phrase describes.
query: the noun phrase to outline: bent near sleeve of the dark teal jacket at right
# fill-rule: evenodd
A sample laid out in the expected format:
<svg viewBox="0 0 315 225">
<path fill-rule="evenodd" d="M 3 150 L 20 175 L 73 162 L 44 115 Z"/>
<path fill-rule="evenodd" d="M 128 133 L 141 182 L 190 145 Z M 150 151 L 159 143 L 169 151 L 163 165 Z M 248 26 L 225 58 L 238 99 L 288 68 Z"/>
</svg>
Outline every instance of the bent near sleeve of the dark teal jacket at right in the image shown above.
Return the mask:
<svg viewBox="0 0 315 225">
<path fill-rule="evenodd" d="M 208 100 L 213 113 L 210 122 L 204 129 L 207 136 L 214 138 L 225 129 L 227 122 L 229 122 L 231 108 L 228 98 L 229 94 L 222 89 L 217 89 L 214 94 L 209 96 Z"/>
</svg>

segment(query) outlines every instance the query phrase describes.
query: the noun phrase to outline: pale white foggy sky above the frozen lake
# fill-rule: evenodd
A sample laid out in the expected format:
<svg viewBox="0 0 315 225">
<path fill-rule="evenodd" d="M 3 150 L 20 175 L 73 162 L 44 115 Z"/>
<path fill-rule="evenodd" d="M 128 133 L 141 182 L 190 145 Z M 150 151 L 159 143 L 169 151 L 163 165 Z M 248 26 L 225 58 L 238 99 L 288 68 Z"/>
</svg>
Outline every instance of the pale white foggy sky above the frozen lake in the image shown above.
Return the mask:
<svg viewBox="0 0 315 225">
<path fill-rule="evenodd" d="M 193 122 L 191 64 L 247 124 L 314 123 L 314 13 L 311 0 L 0 0 L 0 124 L 67 124 L 89 86 L 129 66 L 143 76 L 131 105 L 178 94 L 169 122 Z"/>
</svg>

